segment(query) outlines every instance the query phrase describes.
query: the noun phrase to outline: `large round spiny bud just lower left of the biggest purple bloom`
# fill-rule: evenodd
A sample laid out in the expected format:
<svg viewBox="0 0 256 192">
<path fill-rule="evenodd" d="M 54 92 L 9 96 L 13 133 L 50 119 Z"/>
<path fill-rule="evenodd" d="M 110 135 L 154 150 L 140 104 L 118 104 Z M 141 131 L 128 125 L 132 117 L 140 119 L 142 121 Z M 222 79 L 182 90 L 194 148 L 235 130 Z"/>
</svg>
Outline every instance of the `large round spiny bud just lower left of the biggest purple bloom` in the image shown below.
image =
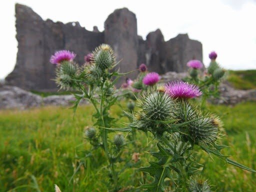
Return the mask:
<svg viewBox="0 0 256 192">
<path fill-rule="evenodd" d="M 152 120 L 165 120 L 171 116 L 174 101 L 165 93 L 153 91 L 143 95 L 139 105 L 146 118 Z"/>
</svg>

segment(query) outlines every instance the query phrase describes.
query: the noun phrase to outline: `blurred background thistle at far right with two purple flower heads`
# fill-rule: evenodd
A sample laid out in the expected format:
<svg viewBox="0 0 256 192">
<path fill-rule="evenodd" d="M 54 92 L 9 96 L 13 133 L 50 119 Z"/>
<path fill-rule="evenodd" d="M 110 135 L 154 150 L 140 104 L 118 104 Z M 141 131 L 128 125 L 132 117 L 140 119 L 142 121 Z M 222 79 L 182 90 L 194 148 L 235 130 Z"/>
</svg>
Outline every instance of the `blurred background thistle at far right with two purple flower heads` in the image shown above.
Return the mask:
<svg viewBox="0 0 256 192">
<path fill-rule="evenodd" d="M 217 53 L 212 51 L 209 53 L 210 63 L 207 69 L 201 75 L 200 70 L 203 64 L 199 60 L 190 60 L 187 62 L 187 66 L 190 68 L 189 76 L 184 78 L 189 83 L 194 83 L 203 92 L 201 97 L 201 107 L 205 107 L 206 99 L 210 96 L 218 97 L 218 86 L 224 77 L 225 70 L 219 66 L 216 62 Z"/>
</svg>

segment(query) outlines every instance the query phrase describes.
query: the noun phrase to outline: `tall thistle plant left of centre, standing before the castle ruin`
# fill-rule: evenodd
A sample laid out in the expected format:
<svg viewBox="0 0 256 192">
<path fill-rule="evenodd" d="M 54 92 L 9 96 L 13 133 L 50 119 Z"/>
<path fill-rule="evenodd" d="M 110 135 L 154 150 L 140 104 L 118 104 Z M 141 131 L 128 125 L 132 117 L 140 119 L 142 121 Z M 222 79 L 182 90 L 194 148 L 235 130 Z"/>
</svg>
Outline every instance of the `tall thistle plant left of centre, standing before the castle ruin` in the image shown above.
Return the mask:
<svg viewBox="0 0 256 192">
<path fill-rule="evenodd" d="M 50 62 L 56 64 L 55 81 L 61 89 L 74 90 L 76 98 L 73 110 L 75 111 L 81 99 L 87 99 L 94 107 L 93 119 L 96 122 L 86 128 L 84 137 L 90 142 L 91 149 L 85 156 L 91 156 L 98 148 L 104 151 L 109 176 L 109 191 L 118 191 L 121 188 L 119 180 L 120 169 L 116 163 L 125 162 L 121 158 L 125 146 L 123 135 L 116 134 L 109 139 L 109 130 L 115 119 L 109 114 L 109 108 L 116 103 L 119 97 L 114 86 L 115 81 L 122 75 L 115 70 L 116 60 L 112 48 L 101 44 L 84 57 L 85 63 L 78 66 L 73 59 L 75 53 L 61 50 L 51 56 Z M 113 80 L 113 77 L 114 80 Z M 130 104 L 131 108 L 132 104 Z"/>
</svg>

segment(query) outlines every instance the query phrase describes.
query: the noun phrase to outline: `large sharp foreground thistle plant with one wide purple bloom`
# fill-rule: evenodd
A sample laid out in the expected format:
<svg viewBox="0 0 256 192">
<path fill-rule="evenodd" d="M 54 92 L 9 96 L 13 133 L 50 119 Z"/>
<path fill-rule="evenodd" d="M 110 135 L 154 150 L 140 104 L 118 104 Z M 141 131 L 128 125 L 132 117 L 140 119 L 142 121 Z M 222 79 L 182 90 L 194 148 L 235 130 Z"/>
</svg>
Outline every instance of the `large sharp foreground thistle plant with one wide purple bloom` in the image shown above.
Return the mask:
<svg viewBox="0 0 256 192">
<path fill-rule="evenodd" d="M 197 85 L 176 81 L 141 95 L 133 122 L 123 128 L 123 131 L 135 128 L 146 135 L 149 132 L 156 140 L 158 151 L 150 152 L 156 161 L 139 168 L 152 177 L 151 183 L 140 186 L 141 190 L 210 191 L 210 184 L 202 176 L 203 165 L 196 161 L 200 150 L 256 172 L 221 153 L 226 147 L 218 144 L 224 132 L 221 120 L 214 114 L 202 112 L 191 100 L 201 94 Z"/>
</svg>

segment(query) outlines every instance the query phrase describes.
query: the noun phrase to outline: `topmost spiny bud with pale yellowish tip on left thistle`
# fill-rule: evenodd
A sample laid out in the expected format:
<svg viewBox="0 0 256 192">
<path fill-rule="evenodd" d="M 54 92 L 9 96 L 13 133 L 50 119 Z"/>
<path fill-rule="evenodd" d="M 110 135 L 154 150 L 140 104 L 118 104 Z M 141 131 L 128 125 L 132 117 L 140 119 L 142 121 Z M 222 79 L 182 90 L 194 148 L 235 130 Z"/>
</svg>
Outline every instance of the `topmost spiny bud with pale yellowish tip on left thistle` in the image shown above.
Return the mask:
<svg viewBox="0 0 256 192">
<path fill-rule="evenodd" d="M 115 64 L 115 56 L 108 44 L 101 44 L 93 51 L 93 61 L 101 69 L 110 69 Z"/>
</svg>

